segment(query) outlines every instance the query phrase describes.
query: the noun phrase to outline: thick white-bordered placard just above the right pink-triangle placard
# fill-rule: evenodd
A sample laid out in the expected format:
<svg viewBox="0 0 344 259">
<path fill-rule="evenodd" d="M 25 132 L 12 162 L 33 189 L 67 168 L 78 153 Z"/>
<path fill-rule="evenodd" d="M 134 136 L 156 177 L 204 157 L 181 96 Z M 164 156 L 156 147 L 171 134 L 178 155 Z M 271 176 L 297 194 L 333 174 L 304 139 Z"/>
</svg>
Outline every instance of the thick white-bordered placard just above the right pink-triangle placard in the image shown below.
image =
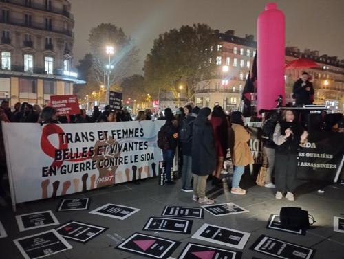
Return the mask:
<svg viewBox="0 0 344 259">
<path fill-rule="evenodd" d="M 193 234 L 193 238 L 217 245 L 225 245 L 237 249 L 244 249 L 250 233 L 226 227 L 204 224 Z"/>
</svg>

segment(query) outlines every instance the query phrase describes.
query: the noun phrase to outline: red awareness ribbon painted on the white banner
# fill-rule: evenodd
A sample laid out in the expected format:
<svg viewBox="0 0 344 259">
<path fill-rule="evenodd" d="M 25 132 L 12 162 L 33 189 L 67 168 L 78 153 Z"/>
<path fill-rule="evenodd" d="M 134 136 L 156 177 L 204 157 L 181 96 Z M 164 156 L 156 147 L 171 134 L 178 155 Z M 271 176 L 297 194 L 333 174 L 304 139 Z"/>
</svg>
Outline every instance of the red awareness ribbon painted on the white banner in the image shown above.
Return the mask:
<svg viewBox="0 0 344 259">
<path fill-rule="evenodd" d="M 43 150 L 43 152 L 54 158 L 55 159 L 55 153 L 56 150 L 63 150 L 63 149 L 67 149 L 68 148 L 68 143 L 62 141 L 60 134 L 65 133 L 63 131 L 62 128 L 60 128 L 58 125 L 56 124 L 47 124 L 42 131 L 42 135 L 41 135 L 41 148 Z M 56 148 L 54 145 L 52 145 L 52 143 L 50 143 L 48 137 L 50 135 L 54 135 L 57 134 L 58 135 L 58 148 Z M 74 157 L 77 157 L 78 153 L 74 153 Z M 79 156 L 81 155 L 81 153 L 79 154 Z M 88 155 L 88 153 L 86 154 Z M 75 159 L 68 159 L 68 160 L 61 160 L 61 161 L 56 161 L 54 160 L 54 162 L 52 162 L 51 166 L 56 166 L 57 168 L 60 168 L 63 165 L 63 161 L 69 161 L 69 162 L 78 162 L 78 161 L 84 161 L 89 159 L 89 157 L 79 157 L 79 158 L 75 158 Z"/>
</svg>

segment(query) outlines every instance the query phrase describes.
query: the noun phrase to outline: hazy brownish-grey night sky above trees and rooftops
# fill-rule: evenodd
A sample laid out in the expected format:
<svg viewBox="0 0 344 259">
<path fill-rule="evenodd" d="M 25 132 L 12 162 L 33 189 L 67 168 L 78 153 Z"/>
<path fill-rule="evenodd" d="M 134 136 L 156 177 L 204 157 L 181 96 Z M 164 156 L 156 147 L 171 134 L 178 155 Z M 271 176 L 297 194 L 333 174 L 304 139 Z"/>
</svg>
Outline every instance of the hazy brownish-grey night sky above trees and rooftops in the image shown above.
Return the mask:
<svg viewBox="0 0 344 259">
<path fill-rule="evenodd" d="M 69 0 L 75 19 L 74 63 L 89 52 L 89 30 L 114 23 L 140 49 L 136 73 L 158 34 L 193 23 L 221 32 L 256 34 L 257 16 L 266 0 Z M 286 45 L 319 50 L 344 59 L 344 0 L 276 0 L 286 14 Z"/>
</svg>

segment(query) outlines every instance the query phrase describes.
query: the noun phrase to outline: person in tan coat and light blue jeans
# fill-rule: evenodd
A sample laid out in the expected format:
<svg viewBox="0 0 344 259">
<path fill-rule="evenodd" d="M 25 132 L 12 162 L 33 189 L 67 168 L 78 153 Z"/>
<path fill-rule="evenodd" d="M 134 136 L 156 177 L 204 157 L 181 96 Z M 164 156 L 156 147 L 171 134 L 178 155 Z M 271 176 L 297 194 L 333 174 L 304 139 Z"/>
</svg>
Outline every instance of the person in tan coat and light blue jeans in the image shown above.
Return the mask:
<svg viewBox="0 0 344 259">
<path fill-rule="evenodd" d="M 232 190 L 230 192 L 233 194 L 244 195 L 246 194 L 246 190 L 241 189 L 239 187 L 239 183 L 242 174 L 244 174 L 245 166 L 253 163 L 252 153 L 247 143 L 250 140 L 251 135 L 246 131 L 246 128 L 244 128 L 244 121 L 241 112 L 233 111 L 230 121 L 232 123 L 234 133 L 234 146 L 231 150 L 234 174 Z"/>
</svg>

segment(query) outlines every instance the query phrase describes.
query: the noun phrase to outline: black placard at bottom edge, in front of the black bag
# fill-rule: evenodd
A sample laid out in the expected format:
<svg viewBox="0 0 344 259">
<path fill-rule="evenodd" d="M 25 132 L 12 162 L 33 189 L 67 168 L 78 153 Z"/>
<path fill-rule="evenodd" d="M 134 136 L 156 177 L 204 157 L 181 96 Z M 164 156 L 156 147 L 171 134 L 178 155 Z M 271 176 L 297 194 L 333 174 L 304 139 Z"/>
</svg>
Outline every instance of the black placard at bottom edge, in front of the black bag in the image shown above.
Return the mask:
<svg viewBox="0 0 344 259">
<path fill-rule="evenodd" d="M 261 235 L 250 249 L 283 259 L 310 259 L 315 254 L 315 249 L 264 235 Z"/>
</svg>

